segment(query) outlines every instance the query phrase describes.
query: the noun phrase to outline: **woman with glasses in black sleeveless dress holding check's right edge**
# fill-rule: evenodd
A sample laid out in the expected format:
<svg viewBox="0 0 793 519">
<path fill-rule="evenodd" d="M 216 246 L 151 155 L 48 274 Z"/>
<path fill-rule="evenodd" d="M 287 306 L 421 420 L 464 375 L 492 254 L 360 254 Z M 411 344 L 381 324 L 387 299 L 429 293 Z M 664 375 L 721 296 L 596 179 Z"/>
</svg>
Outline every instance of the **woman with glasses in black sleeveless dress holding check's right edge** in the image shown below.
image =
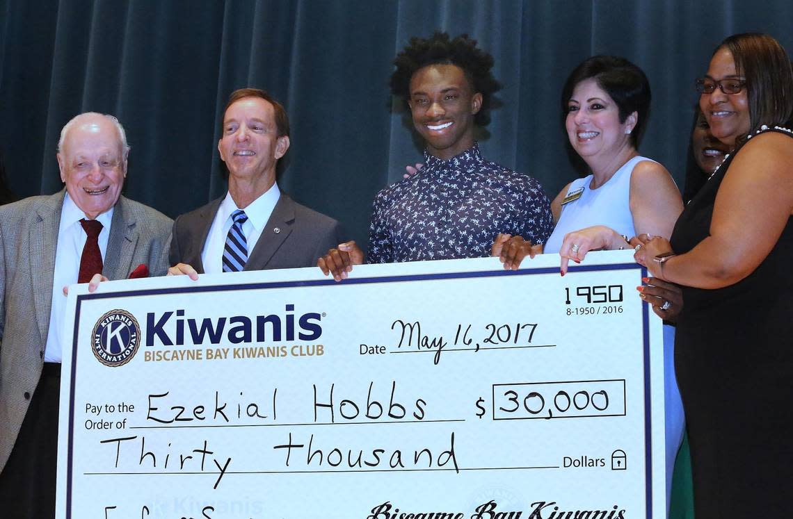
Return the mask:
<svg viewBox="0 0 793 519">
<path fill-rule="evenodd" d="M 676 372 L 697 519 L 790 517 L 793 489 L 793 71 L 771 36 L 730 36 L 697 82 L 734 152 L 637 260 L 684 286 Z"/>
</svg>

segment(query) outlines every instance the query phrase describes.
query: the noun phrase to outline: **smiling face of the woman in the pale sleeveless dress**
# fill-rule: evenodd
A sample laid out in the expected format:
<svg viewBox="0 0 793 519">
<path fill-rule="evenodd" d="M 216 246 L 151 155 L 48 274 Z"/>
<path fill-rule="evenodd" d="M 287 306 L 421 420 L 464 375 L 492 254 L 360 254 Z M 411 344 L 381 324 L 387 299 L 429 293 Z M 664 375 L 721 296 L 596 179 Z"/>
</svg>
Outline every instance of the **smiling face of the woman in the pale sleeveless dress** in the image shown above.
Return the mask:
<svg viewBox="0 0 793 519">
<path fill-rule="evenodd" d="M 589 166 L 633 148 L 630 131 L 636 125 L 636 113 L 620 123 L 619 107 L 595 78 L 576 85 L 567 110 L 565 128 L 570 144 Z"/>
</svg>

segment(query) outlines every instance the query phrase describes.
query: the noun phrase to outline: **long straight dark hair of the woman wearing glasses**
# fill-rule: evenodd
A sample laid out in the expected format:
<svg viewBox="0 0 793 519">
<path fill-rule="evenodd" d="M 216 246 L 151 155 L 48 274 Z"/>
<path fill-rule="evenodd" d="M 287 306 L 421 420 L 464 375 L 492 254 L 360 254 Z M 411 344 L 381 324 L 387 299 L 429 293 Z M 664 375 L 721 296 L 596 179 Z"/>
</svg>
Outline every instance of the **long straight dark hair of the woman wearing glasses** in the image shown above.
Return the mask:
<svg viewBox="0 0 793 519">
<path fill-rule="evenodd" d="M 746 78 L 749 101 L 749 133 L 763 124 L 789 125 L 793 119 L 793 71 L 787 52 L 772 36 L 745 32 L 728 36 L 714 50 L 726 48 L 733 55 L 735 72 Z M 741 143 L 742 135 L 736 139 Z"/>
</svg>

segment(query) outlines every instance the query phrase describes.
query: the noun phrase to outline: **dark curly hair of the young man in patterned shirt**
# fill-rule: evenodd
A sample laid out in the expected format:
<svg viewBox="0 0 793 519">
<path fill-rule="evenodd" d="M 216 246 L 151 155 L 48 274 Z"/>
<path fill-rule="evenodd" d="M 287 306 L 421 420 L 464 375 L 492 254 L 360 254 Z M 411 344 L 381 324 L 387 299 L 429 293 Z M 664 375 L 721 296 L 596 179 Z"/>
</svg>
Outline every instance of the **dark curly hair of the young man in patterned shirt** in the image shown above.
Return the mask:
<svg viewBox="0 0 793 519">
<path fill-rule="evenodd" d="M 446 32 L 440 31 L 427 39 L 414 36 L 408 46 L 397 54 L 394 65 L 397 70 L 391 74 L 391 92 L 405 101 L 410 99 L 410 80 L 419 69 L 429 65 L 460 67 L 473 93 L 482 94 L 482 106 L 473 122 L 479 126 L 490 122 L 488 110 L 492 94 L 500 90 L 501 85 L 491 72 L 492 55 L 477 48 L 477 40 L 469 38 L 467 34 L 461 34 L 454 40 Z"/>
</svg>

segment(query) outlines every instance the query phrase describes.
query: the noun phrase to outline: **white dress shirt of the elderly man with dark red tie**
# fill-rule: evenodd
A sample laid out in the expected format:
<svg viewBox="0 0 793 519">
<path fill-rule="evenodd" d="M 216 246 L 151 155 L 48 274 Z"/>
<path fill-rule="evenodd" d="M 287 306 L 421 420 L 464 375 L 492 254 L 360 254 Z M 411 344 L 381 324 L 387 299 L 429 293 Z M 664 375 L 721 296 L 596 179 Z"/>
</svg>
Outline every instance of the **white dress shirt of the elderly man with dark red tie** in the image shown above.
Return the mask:
<svg viewBox="0 0 793 519">
<path fill-rule="evenodd" d="M 88 239 L 86 231 L 80 224 L 80 220 L 83 218 L 86 218 L 85 213 L 77 207 L 74 200 L 71 200 L 69 193 L 66 193 L 66 197 L 63 198 L 63 208 L 60 211 L 55 272 L 52 274 L 52 310 L 50 310 L 44 362 L 60 362 L 63 358 L 63 345 L 60 341 L 63 317 L 66 314 L 66 296 L 63 295 L 63 287 L 77 283 L 82 248 Z M 102 223 L 102 231 L 99 232 L 99 251 L 102 253 L 102 263 L 104 264 L 107 242 L 110 238 L 110 222 L 113 221 L 113 208 L 97 216 L 97 219 Z"/>
</svg>

